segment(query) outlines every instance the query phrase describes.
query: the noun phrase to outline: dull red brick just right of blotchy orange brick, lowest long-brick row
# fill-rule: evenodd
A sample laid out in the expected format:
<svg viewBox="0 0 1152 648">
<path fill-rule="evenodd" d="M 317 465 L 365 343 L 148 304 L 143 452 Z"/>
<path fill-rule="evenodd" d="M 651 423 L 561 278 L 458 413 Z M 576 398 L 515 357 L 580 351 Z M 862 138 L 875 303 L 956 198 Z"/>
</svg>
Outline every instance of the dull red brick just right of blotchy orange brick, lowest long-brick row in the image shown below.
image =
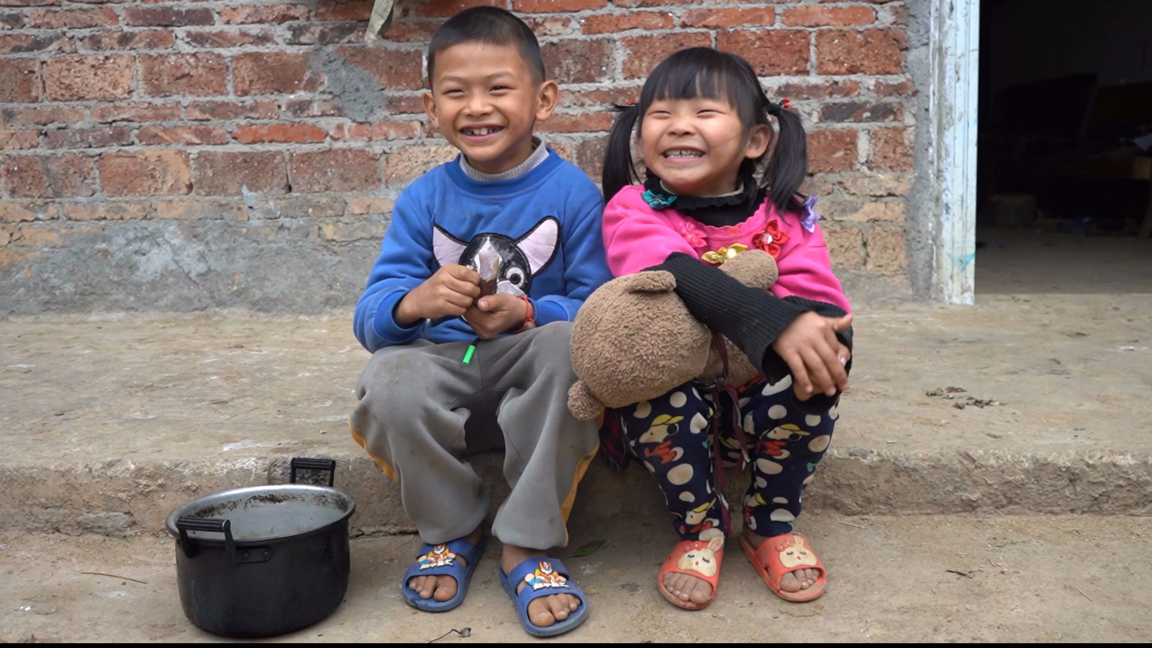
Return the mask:
<svg viewBox="0 0 1152 648">
<path fill-rule="evenodd" d="M 279 151 L 200 151 L 196 155 L 194 181 L 196 193 L 205 196 L 238 196 L 242 191 L 288 191 L 285 156 Z"/>
</svg>

